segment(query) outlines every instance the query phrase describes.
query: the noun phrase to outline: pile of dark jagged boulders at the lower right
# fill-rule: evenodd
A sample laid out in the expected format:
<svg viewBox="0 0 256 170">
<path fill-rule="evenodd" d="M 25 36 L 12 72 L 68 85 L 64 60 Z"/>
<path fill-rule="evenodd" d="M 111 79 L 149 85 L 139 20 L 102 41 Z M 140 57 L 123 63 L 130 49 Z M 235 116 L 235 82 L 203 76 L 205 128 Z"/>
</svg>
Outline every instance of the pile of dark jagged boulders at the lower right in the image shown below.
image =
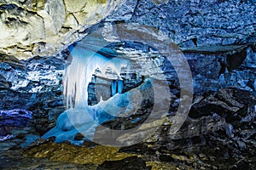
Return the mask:
<svg viewBox="0 0 256 170">
<path fill-rule="evenodd" d="M 209 103 L 212 105 L 211 108 L 207 106 Z M 150 138 L 140 144 L 124 147 L 121 151 L 150 156 L 156 154 L 160 161 L 182 161 L 185 165 L 195 169 L 225 169 L 226 166 L 233 166 L 233 162 L 236 161 L 247 162 L 249 167 L 253 167 L 254 127 L 256 126 L 254 105 L 256 105 L 255 95 L 238 88 L 224 88 L 216 94 L 205 94 L 205 97 L 195 99 L 193 105 L 194 109 L 201 111 L 201 114 L 194 113 L 195 115 L 191 116 L 189 113 L 193 119 L 188 117 L 177 133 L 169 133 L 173 126 L 171 115 L 167 117 L 169 121 L 164 122 Z M 203 114 L 203 112 L 208 114 Z M 131 124 L 132 121 L 131 119 Z M 115 128 L 114 123 L 124 122 L 116 119 L 113 122 L 103 123 L 103 126 Z M 141 123 L 143 122 L 138 122 L 137 126 Z M 152 124 L 155 123 L 152 122 Z M 126 127 L 129 126 L 126 125 Z M 141 135 L 147 133 L 150 128 L 150 126 L 144 127 L 146 128 L 140 128 Z M 129 139 L 132 139 L 132 135 L 134 134 L 123 133 L 123 136 Z M 184 152 L 188 155 L 198 154 L 198 156 L 188 156 Z M 173 153 L 178 154 L 172 155 Z M 195 163 L 198 162 L 195 161 L 197 159 L 201 161 L 201 165 Z M 237 163 L 237 167 L 241 165 Z"/>
</svg>

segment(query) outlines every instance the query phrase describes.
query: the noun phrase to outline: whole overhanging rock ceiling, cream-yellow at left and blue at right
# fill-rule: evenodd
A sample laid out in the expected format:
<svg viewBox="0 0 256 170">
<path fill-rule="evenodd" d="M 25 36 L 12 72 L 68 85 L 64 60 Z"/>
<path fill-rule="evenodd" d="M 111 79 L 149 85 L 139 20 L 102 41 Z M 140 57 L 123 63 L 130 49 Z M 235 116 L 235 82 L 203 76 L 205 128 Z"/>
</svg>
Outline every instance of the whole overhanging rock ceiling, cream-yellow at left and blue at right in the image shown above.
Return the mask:
<svg viewBox="0 0 256 170">
<path fill-rule="evenodd" d="M 1 53 L 14 54 L 20 59 L 60 53 L 84 37 L 88 27 L 108 16 L 122 2 L 2 1 L 1 29 L 6 33 L 0 42 Z M 241 12 L 244 8 L 246 13 Z M 255 41 L 254 8 L 253 0 L 126 0 L 104 22 L 125 20 L 159 28 L 183 50 L 217 52 L 230 48 L 228 51 L 234 51 Z M 238 46 L 230 47 L 234 44 Z"/>
</svg>

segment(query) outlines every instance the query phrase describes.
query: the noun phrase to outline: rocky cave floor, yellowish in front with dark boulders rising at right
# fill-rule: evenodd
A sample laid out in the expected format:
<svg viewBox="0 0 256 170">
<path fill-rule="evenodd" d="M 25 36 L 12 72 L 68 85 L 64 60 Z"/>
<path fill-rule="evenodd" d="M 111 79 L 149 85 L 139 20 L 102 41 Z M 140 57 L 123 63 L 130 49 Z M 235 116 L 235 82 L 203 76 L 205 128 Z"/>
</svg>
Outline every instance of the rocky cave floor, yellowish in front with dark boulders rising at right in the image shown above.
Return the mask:
<svg viewBox="0 0 256 170">
<path fill-rule="evenodd" d="M 15 139 L 0 143 L 0 168 L 255 169 L 255 105 L 255 95 L 238 88 L 197 96 L 177 133 L 167 133 L 171 115 L 171 123 L 164 123 L 151 138 L 122 148 L 85 140 L 82 146 L 55 144 L 54 139 L 30 144 L 38 138 L 32 129 L 16 130 Z M 119 128 L 116 123 L 122 122 L 104 126 Z M 132 127 L 127 121 L 125 126 Z M 77 134 L 76 139 L 83 136 Z"/>
</svg>

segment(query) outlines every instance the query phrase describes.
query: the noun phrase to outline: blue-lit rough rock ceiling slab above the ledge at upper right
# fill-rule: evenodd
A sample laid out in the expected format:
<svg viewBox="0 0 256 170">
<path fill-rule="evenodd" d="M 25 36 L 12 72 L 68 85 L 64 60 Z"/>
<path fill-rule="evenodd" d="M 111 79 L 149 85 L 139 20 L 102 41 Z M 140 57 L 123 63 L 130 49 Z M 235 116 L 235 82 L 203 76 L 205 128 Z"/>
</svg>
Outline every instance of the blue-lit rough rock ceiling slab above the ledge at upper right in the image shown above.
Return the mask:
<svg viewBox="0 0 256 170">
<path fill-rule="evenodd" d="M 131 21 L 168 32 L 184 49 L 209 51 L 255 40 L 254 0 L 168 1 L 160 6 L 150 0 L 137 2 Z M 247 13 L 241 12 L 244 8 Z"/>
</svg>

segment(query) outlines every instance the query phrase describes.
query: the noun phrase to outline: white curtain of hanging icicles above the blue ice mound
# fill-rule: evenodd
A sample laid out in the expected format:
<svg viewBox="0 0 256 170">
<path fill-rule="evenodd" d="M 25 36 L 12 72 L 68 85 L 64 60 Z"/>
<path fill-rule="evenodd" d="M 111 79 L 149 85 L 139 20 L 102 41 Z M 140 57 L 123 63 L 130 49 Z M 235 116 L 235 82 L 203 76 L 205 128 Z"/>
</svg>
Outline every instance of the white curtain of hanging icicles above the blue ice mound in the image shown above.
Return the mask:
<svg viewBox="0 0 256 170">
<path fill-rule="evenodd" d="M 121 68 L 129 63 L 128 59 L 108 59 L 101 54 L 80 47 L 73 48 L 71 54 L 73 61 L 67 67 L 63 79 L 64 94 L 67 97 L 67 109 L 74 108 L 76 105 L 78 107 L 88 105 L 87 88 L 96 69 L 104 73 L 108 67 L 111 67 L 120 77 Z M 116 85 L 113 84 L 114 87 L 116 88 Z M 112 90 L 112 92 L 113 95 L 117 93 L 116 90 Z M 73 106 L 73 99 L 75 106 Z"/>
</svg>

